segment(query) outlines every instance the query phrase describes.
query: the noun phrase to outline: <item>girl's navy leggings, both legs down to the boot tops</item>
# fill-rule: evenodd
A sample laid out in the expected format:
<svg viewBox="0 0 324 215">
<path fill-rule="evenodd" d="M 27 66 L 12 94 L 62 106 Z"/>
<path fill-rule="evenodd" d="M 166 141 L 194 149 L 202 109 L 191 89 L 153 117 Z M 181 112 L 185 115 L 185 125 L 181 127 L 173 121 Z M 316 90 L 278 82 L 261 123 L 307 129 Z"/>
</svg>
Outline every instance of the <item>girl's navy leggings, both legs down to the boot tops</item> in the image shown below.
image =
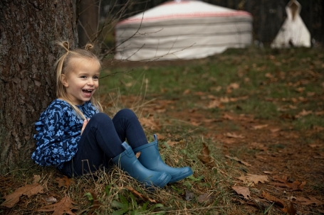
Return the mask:
<svg viewBox="0 0 324 215">
<path fill-rule="evenodd" d="M 117 112 L 113 120 L 103 113 L 90 118 L 78 143 L 78 152 L 63 165 L 64 175 L 75 177 L 109 167 L 110 160 L 124 151 L 122 143 L 132 148 L 147 144 L 147 138 L 137 116 L 130 109 Z"/>
</svg>

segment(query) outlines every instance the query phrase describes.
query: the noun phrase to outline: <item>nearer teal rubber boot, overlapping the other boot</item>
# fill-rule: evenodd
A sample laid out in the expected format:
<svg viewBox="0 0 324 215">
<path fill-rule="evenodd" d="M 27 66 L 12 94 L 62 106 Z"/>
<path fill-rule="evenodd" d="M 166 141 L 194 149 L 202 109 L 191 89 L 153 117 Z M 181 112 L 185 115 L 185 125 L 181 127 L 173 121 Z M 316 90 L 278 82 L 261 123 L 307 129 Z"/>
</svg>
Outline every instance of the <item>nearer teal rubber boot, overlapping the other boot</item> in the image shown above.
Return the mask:
<svg viewBox="0 0 324 215">
<path fill-rule="evenodd" d="M 147 168 L 137 160 L 130 145 L 124 142 L 122 143 L 122 147 L 125 148 L 125 151 L 113 158 L 113 162 L 120 167 L 121 170 L 127 172 L 128 175 L 135 178 L 141 184 L 144 184 L 147 188 L 164 187 L 169 182 L 171 179 L 169 174 L 166 172 L 147 170 Z"/>
</svg>

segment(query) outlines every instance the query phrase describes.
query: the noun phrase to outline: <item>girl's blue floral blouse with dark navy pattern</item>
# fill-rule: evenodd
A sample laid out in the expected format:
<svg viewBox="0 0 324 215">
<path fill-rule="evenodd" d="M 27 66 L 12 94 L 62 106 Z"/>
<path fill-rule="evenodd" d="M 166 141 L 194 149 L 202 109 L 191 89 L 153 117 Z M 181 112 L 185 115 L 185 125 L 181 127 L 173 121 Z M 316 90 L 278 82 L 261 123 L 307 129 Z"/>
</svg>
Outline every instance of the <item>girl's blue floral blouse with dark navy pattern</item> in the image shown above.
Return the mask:
<svg viewBox="0 0 324 215">
<path fill-rule="evenodd" d="M 77 107 L 86 118 L 99 112 L 90 101 Z M 83 119 L 68 102 L 54 100 L 35 123 L 38 133 L 33 138 L 37 142 L 31 158 L 39 165 L 55 165 L 61 169 L 63 162 L 71 160 L 78 150 L 82 126 Z"/>
</svg>

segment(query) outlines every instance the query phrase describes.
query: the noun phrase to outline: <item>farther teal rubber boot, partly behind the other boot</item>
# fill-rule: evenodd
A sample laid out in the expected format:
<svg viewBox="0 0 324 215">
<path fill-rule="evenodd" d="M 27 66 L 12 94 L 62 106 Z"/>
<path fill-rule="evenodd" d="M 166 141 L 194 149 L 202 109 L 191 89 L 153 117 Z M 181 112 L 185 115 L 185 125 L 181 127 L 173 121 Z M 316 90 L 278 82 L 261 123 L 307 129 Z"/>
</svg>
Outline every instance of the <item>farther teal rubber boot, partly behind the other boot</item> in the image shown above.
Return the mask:
<svg viewBox="0 0 324 215">
<path fill-rule="evenodd" d="M 177 182 L 189 175 L 192 175 L 192 169 L 190 167 L 174 168 L 166 165 L 160 156 L 156 134 L 154 135 L 154 138 L 155 140 L 153 142 L 133 149 L 134 153 L 140 152 L 138 160 L 140 160 L 140 163 L 142 163 L 143 166 L 147 167 L 149 170 L 167 172 L 171 175 L 169 183 Z"/>
</svg>

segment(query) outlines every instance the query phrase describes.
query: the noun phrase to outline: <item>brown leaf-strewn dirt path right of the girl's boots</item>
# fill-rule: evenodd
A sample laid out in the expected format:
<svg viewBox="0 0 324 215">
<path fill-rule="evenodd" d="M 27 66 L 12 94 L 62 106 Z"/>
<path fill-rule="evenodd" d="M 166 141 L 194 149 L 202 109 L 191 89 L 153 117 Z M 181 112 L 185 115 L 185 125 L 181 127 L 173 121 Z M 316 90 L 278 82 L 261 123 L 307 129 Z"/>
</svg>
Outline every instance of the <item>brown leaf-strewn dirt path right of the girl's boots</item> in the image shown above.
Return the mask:
<svg viewBox="0 0 324 215">
<path fill-rule="evenodd" d="M 264 211 L 269 204 L 262 205 L 263 202 L 258 199 L 270 200 L 275 197 L 277 211 L 285 210 L 287 206 L 282 204 L 292 202 L 286 208 L 290 214 L 294 214 L 294 211 L 295 214 L 324 214 L 324 153 L 319 150 L 324 143 L 319 139 L 307 143 L 308 136 L 321 133 L 324 128 L 315 127 L 301 132 L 293 129 L 291 122 L 294 119 L 288 117 L 260 120 L 226 111 L 220 111 L 215 117 L 206 109 L 179 111 L 174 108 L 184 106 L 182 102 L 181 98 L 166 101 L 157 97 L 153 107 L 155 110 L 147 111 L 160 111 L 165 118 L 203 127 L 201 135 L 218 145 L 217 148 L 221 145 L 226 162 L 237 161 L 242 176 L 266 175 L 268 178 L 268 182 L 262 183 L 260 180 L 250 184 L 250 200 L 238 198 L 238 204 Z M 196 105 L 207 105 L 201 102 Z M 233 126 L 236 128 L 234 131 Z M 233 180 L 243 184 L 238 178 Z M 265 197 L 264 192 L 270 196 Z"/>
</svg>

